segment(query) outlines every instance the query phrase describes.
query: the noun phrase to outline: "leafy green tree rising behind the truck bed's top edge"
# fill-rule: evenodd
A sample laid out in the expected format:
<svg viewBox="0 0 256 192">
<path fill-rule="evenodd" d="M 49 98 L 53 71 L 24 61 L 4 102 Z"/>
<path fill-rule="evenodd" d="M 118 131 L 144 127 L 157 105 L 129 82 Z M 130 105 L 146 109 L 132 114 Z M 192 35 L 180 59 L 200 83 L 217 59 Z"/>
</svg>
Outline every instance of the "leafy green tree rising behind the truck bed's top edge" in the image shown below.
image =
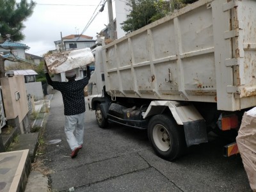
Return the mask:
<svg viewBox="0 0 256 192">
<path fill-rule="evenodd" d="M 195 1 L 198 0 L 128 0 L 130 13 L 121 28 L 131 33 Z"/>
</svg>

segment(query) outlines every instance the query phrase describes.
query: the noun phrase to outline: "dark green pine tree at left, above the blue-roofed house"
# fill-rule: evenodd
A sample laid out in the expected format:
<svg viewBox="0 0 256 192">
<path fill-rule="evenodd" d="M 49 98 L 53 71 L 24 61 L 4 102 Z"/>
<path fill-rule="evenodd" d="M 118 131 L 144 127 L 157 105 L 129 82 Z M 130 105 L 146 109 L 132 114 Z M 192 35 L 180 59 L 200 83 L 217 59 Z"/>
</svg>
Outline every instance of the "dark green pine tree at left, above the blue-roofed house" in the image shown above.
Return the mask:
<svg viewBox="0 0 256 192">
<path fill-rule="evenodd" d="M 22 33 L 22 29 L 25 28 L 23 22 L 32 15 L 35 2 L 20 0 L 20 3 L 16 3 L 15 0 L 0 0 L 0 4 L 0 38 L 23 40 L 25 37 Z M 4 77 L 4 60 L 0 54 L 0 78 Z"/>
</svg>

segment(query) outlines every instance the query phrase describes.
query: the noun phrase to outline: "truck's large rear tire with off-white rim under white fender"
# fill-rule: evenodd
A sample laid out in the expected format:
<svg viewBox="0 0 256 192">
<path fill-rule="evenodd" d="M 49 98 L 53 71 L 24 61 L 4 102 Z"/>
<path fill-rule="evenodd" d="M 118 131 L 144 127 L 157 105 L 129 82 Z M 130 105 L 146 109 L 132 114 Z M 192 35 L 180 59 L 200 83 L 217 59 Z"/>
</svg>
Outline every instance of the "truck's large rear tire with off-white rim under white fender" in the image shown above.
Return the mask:
<svg viewBox="0 0 256 192">
<path fill-rule="evenodd" d="M 167 115 L 156 115 L 150 119 L 148 138 L 156 154 L 168 161 L 176 159 L 186 149 L 182 127 Z"/>
</svg>

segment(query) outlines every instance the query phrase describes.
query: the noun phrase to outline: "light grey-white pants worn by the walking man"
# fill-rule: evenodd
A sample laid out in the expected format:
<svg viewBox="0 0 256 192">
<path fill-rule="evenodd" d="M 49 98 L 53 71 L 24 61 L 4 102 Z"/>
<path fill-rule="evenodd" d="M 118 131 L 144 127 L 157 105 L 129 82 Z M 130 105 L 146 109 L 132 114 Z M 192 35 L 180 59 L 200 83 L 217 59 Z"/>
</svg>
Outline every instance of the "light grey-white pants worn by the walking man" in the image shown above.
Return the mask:
<svg viewBox="0 0 256 192">
<path fill-rule="evenodd" d="M 65 115 L 65 134 L 71 150 L 83 144 L 84 113 L 69 116 Z"/>
</svg>

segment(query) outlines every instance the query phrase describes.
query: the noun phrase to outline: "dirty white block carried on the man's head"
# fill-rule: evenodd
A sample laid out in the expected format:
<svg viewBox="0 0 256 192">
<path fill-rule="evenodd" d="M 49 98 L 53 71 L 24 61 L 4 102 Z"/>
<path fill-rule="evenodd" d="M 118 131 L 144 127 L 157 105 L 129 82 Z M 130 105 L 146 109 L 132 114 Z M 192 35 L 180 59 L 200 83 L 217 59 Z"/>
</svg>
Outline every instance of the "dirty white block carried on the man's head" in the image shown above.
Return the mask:
<svg viewBox="0 0 256 192">
<path fill-rule="evenodd" d="M 59 74 L 93 63 L 94 57 L 90 48 L 84 48 L 49 54 L 44 60 L 51 74 Z"/>
</svg>

